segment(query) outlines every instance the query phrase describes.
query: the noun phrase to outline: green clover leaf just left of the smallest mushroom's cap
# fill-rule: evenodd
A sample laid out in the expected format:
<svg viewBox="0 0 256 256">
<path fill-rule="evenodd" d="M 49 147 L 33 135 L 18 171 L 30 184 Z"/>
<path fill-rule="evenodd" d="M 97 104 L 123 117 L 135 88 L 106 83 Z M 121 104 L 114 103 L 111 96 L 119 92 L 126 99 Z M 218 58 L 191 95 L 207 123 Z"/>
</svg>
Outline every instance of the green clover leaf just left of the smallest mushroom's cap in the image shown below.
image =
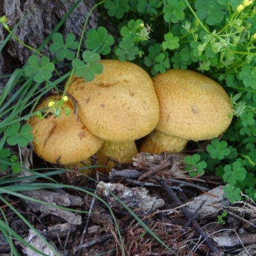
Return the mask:
<svg viewBox="0 0 256 256">
<path fill-rule="evenodd" d="M 12 124 L 6 135 L 7 143 L 10 146 L 19 145 L 20 147 L 28 146 L 28 143 L 33 141 L 33 134 L 31 134 L 31 125 L 24 124 L 20 127 L 20 123 Z"/>
</svg>

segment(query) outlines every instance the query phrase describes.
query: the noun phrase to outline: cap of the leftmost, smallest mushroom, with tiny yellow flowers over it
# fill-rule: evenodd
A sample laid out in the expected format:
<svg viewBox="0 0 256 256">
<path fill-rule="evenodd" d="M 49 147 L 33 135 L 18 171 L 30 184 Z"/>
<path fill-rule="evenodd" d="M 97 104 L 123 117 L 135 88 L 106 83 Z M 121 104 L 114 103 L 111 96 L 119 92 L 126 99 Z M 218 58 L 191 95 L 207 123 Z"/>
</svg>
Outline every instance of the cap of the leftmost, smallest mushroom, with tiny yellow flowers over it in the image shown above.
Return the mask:
<svg viewBox="0 0 256 256">
<path fill-rule="evenodd" d="M 49 100 L 60 100 L 60 97 L 56 95 L 45 97 L 38 103 L 35 111 L 48 107 Z M 70 102 L 64 102 L 63 106 L 71 109 L 70 116 L 66 116 L 65 111 L 61 109 L 59 117 L 49 113 L 42 119 L 37 116 L 29 119 L 31 132 L 34 135 L 34 151 L 50 163 L 78 163 L 95 154 L 103 141 L 93 135 L 79 118 L 78 122 L 76 121 Z"/>
</svg>

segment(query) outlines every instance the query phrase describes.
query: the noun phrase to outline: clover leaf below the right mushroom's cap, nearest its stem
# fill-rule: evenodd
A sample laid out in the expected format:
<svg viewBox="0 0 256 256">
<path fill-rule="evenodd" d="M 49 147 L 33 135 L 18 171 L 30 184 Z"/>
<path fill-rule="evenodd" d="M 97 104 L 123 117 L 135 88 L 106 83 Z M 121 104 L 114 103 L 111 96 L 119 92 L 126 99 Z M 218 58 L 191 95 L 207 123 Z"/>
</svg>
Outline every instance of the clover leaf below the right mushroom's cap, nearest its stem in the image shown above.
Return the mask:
<svg viewBox="0 0 256 256">
<path fill-rule="evenodd" d="M 200 161 L 200 158 L 201 157 L 198 154 L 184 157 L 184 170 L 189 171 L 190 177 L 204 174 L 204 168 L 206 168 L 207 164 L 205 163 L 205 161 Z"/>
</svg>

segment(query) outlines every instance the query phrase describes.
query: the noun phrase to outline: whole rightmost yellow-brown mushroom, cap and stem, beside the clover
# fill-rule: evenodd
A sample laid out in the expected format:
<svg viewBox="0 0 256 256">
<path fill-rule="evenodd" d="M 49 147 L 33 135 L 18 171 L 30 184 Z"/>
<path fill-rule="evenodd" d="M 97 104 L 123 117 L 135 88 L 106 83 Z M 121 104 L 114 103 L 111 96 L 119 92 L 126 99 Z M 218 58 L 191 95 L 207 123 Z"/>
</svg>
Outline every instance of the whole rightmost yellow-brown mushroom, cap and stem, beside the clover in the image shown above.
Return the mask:
<svg viewBox="0 0 256 256">
<path fill-rule="evenodd" d="M 181 152 L 188 140 L 210 140 L 232 120 L 225 90 L 209 77 L 191 70 L 168 70 L 152 77 L 160 106 L 156 129 L 140 152 Z"/>
</svg>

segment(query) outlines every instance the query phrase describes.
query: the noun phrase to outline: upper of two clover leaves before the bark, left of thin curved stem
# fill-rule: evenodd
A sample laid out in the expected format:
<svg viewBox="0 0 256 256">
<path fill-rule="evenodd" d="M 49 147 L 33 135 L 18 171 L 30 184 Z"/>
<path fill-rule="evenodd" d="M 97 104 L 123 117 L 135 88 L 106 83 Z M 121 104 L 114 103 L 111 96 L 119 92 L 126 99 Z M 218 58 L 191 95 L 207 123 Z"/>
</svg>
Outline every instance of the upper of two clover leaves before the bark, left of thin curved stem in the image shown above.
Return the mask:
<svg viewBox="0 0 256 256">
<path fill-rule="evenodd" d="M 68 33 L 65 42 L 61 33 L 54 33 L 52 35 L 52 44 L 49 46 L 49 51 L 56 54 L 58 60 L 74 60 L 75 54 L 71 50 L 76 50 L 79 43 L 75 41 L 76 36 Z"/>
</svg>

